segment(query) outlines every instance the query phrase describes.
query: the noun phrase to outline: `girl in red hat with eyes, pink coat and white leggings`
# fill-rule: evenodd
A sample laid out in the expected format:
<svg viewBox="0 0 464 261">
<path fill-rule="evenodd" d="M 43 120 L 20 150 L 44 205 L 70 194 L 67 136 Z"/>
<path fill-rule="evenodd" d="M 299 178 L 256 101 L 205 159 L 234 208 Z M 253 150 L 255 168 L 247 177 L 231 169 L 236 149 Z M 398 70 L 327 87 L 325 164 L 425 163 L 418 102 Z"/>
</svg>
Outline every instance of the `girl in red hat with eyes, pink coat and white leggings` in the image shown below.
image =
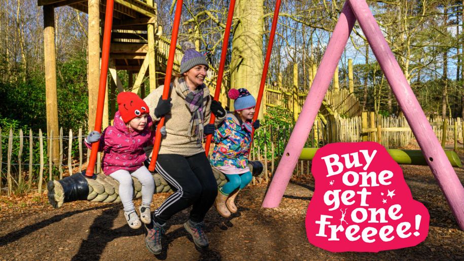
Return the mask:
<svg viewBox="0 0 464 261">
<path fill-rule="evenodd" d="M 100 140 L 98 151 L 103 151 L 103 173 L 119 182 L 119 197 L 124 206 L 124 216 L 129 227 L 138 229 L 140 219 L 135 212 L 132 177 L 142 184 L 142 204 L 139 206 L 140 218 L 150 223 L 150 204 L 155 192 L 152 174 L 144 166 L 146 155 L 144 147 L 153 144 L 154 131 L 151 131 L 150 110 L 144 100 L 132 92 L 118 95 L 119 110 L 115 114 L 114 125 L 106 128 L 100 135 L 92 131 L 85 139 L 87 147 Z"/>
</svg>

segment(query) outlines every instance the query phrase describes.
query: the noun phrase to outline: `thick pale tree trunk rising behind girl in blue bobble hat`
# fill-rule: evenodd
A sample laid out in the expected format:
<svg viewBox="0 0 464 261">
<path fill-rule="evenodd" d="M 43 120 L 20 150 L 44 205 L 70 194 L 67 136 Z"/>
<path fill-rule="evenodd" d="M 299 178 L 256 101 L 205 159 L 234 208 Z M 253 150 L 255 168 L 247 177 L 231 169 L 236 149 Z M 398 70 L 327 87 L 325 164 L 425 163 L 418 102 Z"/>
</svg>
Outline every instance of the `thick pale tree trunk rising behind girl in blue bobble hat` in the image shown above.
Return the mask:
<svg viewBox="0 0 464 261">
<path fill-rule="evenodd" d="M 263 73 L 263 6 L 263 0 L 237 1 L 235 16 L 240 22 L 232 40 L 231 88 L 246 88 L 255 98 Z M 262 118 L 263 106 L 259 113 Z"/>
</svg>

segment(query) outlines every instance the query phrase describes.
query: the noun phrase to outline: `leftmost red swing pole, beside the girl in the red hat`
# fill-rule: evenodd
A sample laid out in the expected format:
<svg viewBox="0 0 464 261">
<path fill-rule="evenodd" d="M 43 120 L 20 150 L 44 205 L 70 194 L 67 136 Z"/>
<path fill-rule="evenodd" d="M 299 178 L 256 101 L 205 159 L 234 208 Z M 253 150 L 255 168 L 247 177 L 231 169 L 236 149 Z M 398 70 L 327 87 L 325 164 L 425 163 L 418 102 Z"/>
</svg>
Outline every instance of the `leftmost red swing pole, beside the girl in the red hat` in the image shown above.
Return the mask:
<svg viewBox="0 0 464 261">
<path fill-rule="evenodd" d="M 106 94 L 106 77 L 108 77 L 108 62 L 110 59 L 111 27 L 113 26 L 114 0 L 106 1 L 105 26 L 103 30 L 103 45 L 101 47 L 100 83 L 98 85 L 97 115 L 95 118 L 95 131 L 101 132 L 103 119 L 103 106 Z M 93 177 L 93 170 L 97 160 L 99 141 L 92 143 L 89 165 L 85 172 L 86 177 Z"/>
</svg>

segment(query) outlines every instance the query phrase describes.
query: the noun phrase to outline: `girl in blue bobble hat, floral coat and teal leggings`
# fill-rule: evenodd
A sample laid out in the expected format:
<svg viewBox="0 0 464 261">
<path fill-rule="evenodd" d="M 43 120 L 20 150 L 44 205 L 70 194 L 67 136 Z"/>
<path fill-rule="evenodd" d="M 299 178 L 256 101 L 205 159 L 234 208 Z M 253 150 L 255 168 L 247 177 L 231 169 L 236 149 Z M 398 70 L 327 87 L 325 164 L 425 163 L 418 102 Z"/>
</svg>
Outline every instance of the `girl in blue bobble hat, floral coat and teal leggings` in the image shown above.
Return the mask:
<svg viewBox="0 0 464 261">
<path fill-rule="evenodd" d="M 229 98 L 235 100 L 235 113 L 227 114 L 216 130 L 213 138 L 216 145 L 210 160 L 211 166 L 223 172 L 229 180 L 219 188 L 216 198 L 216 208 L 224 217 L 237 212 L 235 197 L 252 180 L 248 168 L 252 126 L 255 129 L 260 126 L 259 120 L 252 124 L 256 100 L 246 89 L 231 89 Z"/>
</svg>

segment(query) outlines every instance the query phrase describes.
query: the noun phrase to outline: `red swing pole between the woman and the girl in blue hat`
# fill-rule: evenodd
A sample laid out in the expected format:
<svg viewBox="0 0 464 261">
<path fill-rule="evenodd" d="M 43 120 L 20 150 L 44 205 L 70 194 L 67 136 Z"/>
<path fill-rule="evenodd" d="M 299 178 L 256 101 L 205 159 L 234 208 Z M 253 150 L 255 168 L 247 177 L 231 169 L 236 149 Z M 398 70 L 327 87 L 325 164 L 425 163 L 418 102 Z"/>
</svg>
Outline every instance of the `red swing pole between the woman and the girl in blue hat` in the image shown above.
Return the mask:
<svg viewBox="0 0 464 261">
<path fill-rule="evenodd" d="M 221 94 L 221 86 L 222 86 L 222 78 L 224 75 L 224 64 L 226 63 L 226 54 L 227 54 L 227 47 L 229 45 L 229 36 L 230 36 L 230 27 L 232 26 L 232 18 L 234 17 L 234 8 L 235 8 L 235 0 L 230 0 L 229 4 L 229 13 L 227 14 L 227 23 L 226 23 L 226 30 L 224 31 L 224 42 L 222 43 L 222 51 L 221 51 L 221 61 L 219 63 L 219 70 L 218 70 L 218 80 L 216 82 L 216 91 L 214 100 L 219 100 L 219 95 Z M 209 118 L 209 124 L 215 123 L 215 115 L 211 114 Z M 204 146 L 204 150 L 206 153 L 206 157 L 209 154 L 209 146 L 211 145 L 211 138 L 212 134 L 206 136 L 206 143 Z"/>
</svg>

